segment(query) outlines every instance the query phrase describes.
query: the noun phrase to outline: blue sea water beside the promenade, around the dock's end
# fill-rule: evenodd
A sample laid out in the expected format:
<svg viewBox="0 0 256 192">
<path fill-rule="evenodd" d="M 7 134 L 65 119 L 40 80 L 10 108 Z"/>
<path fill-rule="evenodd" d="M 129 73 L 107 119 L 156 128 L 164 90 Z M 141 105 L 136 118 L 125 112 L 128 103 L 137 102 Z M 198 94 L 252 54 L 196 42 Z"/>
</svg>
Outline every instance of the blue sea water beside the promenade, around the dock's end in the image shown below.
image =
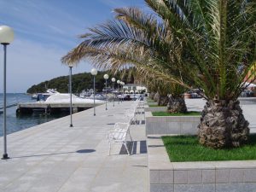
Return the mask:
<svg viewBox="0 0 256 192">
<path fill-rule="evenodd" d="M 7 105 L 19 103 L 19 102 L 35 102 L 31 96 L 27 96 L 24 93 L 8 93 Z M 0 94 L 0 111 L 3 111 L 3 94 Z M 26 115 L 16 115 L 17 106 L 7 108 L 7 133 L 20 131 L 29 127 L 43 124 L 53 119 L 58 119 L 68 115 L 68 113 L 60 114 L 44 114 L 44 113 L 32 113 Z M 0 137 L 3 136 L 3 113 L 0 113 Z"/>
</svg>

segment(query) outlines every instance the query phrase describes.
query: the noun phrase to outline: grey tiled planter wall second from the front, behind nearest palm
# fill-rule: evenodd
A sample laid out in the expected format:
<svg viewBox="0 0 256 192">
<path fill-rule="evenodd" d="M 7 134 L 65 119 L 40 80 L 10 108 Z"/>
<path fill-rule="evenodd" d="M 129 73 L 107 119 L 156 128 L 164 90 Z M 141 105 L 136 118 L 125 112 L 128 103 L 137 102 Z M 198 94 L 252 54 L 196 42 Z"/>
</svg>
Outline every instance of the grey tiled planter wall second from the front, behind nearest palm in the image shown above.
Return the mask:
<svg viewBox="0 0 256 192">
<path fill-rule="evenodd" d="M 151 109 L 151 108 L 150 108 Z M 146 135 L 195 135 L 201 116 L 153 116 L 145 112 Z"/>
</svg>

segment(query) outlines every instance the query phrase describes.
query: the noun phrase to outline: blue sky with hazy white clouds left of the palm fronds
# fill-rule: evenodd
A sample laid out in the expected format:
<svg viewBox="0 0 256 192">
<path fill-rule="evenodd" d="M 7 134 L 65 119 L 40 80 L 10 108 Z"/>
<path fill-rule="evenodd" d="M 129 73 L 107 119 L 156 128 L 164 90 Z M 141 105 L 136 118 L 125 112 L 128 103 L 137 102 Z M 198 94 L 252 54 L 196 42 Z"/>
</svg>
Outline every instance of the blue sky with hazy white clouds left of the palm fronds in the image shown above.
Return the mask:
<svg viewBox="0 0 256 192">
<path fill-rule="evenodd" d="M 15 40 L 7 47 L 7 92 L 19 93 L 33 84 L 68 75 L 61 57 L 76 47 L 89 27 L 113 19 L 114 8 L 143 0 L 0 0 L 0 26 L 10 26 Z M 90 72 L 81 61 L 74 73 Z M 0 93 L 3 92 L 3 46 L 0 46 Z"/>
</svg>

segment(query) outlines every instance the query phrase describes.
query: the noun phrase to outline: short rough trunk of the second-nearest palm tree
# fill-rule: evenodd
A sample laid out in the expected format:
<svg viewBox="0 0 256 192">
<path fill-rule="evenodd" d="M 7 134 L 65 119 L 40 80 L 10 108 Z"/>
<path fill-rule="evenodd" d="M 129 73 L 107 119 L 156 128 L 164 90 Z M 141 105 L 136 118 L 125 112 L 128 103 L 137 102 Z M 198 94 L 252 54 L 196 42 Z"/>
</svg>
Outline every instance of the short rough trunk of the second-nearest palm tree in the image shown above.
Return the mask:
<svg viewBox="0 0 256 192">
<path fill-rule="evenodd" d="M 187 106 L 183 96 L 169 96 L 167 112 L 186 113 L 187 111 Z"/>
</svg>

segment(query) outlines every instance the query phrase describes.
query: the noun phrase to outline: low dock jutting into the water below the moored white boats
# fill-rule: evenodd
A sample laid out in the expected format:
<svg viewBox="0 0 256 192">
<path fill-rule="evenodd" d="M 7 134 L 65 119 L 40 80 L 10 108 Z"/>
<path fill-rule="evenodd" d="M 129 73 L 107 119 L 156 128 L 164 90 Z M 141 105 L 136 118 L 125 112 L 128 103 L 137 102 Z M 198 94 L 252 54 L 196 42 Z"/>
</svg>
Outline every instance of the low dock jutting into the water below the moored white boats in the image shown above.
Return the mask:
<svg viewBox="0 0 256 192">
<path fill-rule="evenodd" d="M 102 105 L 103 103 L 96 103 L 96 106 Z M 83 103 L 75 102 L 72 104 L 73 113 L 84 111 L 89 108 L 93 108 L 93 103 Z M 70 103 L 60 102 L 60 103 L 50 103 L 50 102 L 24 102 L 18 103 L 16 113 L 33 113 L 33 112 L 43 112 L 43 113 L 59 113 L 62 111 L 69 111 Z"/>
</svg>

